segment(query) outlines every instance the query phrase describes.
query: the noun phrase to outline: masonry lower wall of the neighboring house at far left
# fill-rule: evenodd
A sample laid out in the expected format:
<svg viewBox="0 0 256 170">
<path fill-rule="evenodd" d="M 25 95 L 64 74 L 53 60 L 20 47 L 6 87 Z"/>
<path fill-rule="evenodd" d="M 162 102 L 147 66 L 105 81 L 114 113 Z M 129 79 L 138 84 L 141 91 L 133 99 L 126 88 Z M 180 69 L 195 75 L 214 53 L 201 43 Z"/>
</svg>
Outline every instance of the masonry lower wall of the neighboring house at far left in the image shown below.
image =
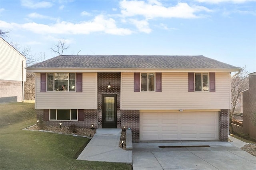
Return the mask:
<svg viewBox="0 0 256 170">
<path fill-rule="evenodd" d="M 22 81 L 0 80 L 0 103 L 21 101 Z"/>
</svg>

